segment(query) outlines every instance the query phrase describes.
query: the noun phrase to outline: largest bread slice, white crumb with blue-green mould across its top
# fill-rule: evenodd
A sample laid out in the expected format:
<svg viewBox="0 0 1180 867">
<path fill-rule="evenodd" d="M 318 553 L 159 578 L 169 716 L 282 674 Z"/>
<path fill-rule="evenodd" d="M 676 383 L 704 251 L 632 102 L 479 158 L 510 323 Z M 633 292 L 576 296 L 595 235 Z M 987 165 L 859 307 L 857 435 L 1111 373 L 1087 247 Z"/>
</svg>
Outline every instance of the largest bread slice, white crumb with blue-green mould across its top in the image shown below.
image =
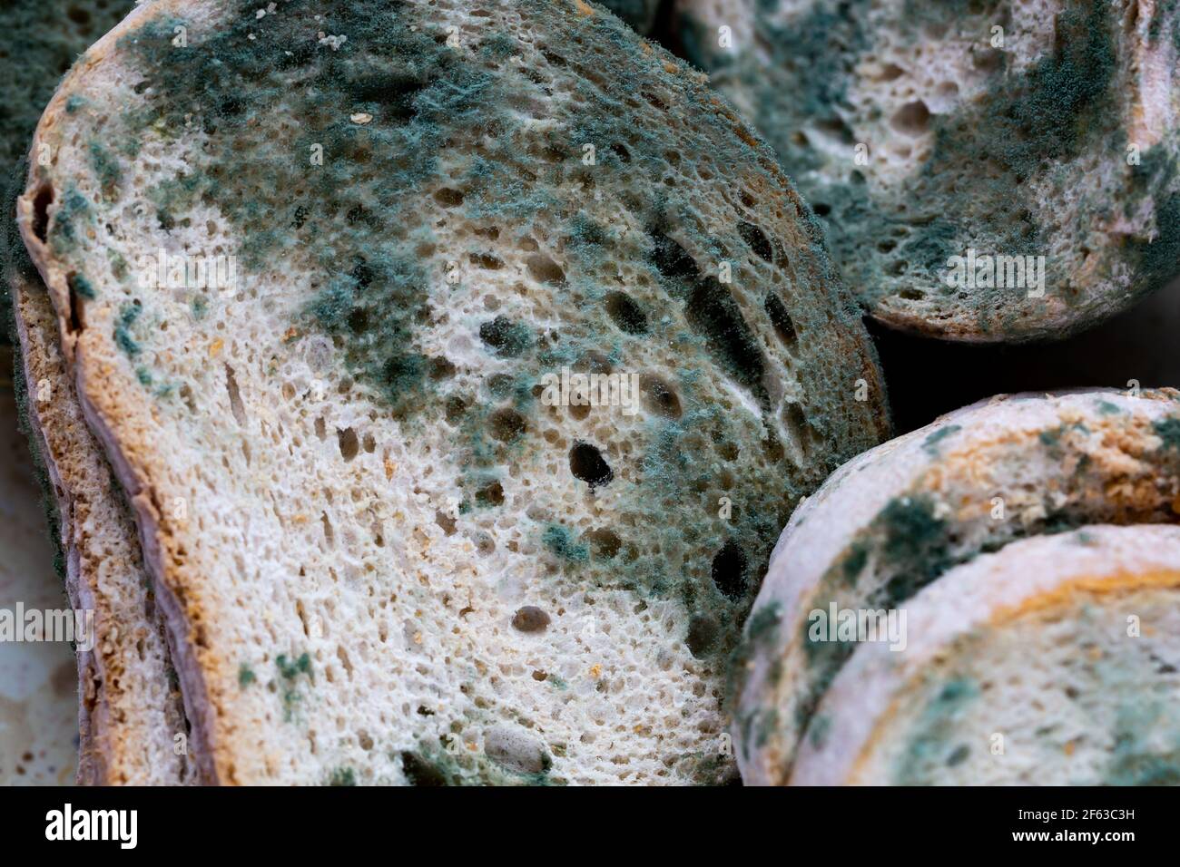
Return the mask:
<svg viewBox="0 0 1180 867">
<path fill-rule="evenodd" d="M 586 4 L 258 12 L 133 13 L 19 215 L 205 776 L 727 779 L 769 549 L 887 433 L 814 218 Z M 236 288 L 140 287 L 160 248 Z M 637 414 L 545 405 L 565 366 L 637 374 Z"/>
</svg>

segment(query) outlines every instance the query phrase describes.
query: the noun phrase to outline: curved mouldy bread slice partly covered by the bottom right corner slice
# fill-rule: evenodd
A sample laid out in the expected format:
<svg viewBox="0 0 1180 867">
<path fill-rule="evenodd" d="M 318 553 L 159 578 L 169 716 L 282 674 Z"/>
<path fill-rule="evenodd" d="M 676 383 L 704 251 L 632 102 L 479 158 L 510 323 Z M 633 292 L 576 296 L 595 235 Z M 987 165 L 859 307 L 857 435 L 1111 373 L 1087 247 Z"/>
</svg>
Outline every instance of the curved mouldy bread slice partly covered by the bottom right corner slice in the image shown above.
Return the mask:
<svg viewBox="0 0 1180 867">
<path fill-rule="evenodd" d="M 997 396 L 874 448 L 800 506 L 735 661 L 747 783 L 784 783 L 852 645 L 809 641 L 815 610 L 896 609 L 1017 539 L 1180 519 L 1180 393 Z"/>
</svg>

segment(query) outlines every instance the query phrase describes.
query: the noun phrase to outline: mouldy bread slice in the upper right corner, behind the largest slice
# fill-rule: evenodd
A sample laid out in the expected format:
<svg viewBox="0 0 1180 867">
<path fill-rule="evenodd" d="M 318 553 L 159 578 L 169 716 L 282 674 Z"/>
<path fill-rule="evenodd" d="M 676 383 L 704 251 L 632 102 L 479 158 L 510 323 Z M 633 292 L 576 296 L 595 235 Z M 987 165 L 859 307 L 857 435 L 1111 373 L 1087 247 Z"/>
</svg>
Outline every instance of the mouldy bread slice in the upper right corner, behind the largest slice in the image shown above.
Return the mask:
<svg viewBox="0 0 1180 867">
<path fill-rule="evenodd" d="M 689 57 L 775 149 L 879 321 L 1061 337 L 1180 272 L 1175 0 L 678 9 Z M 971 249 L 1044 256 L 1043 297 L 950 282 Z"/>
</svg>

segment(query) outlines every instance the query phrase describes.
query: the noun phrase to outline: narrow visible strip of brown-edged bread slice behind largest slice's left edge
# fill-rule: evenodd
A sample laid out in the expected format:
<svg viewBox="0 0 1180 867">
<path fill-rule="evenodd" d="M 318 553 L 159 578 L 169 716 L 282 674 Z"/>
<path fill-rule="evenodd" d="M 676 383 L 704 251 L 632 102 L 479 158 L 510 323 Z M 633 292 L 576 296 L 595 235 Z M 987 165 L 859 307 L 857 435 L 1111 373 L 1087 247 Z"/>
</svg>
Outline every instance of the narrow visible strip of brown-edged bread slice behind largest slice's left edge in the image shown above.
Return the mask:
<svg viewBox="0 0 1180 867">
<path fill-rule="evenodd" d="M 15 376 L 30 447 L 55 504 L 51 531 L 66 591 L 71 607 L 94 612 L 94 648 L 77 653 L 78 782 L 194 782 L 179 682 L 123 490 L 86 427 L 37 271 L 18 256 L 5 276 L 20 350 Z"/>
</svg>

